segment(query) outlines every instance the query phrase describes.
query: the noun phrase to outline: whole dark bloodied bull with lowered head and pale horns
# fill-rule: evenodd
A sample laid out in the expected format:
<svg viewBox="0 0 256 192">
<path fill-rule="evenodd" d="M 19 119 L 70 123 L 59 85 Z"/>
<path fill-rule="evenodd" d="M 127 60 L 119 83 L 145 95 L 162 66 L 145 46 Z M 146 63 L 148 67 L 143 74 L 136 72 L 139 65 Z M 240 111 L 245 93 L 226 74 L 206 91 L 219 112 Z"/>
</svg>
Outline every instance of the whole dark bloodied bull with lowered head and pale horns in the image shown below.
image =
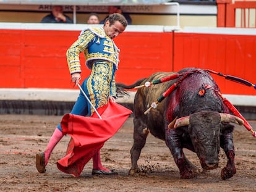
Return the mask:
<svg viewBox="0 0 256 192">
<path fill-rule="evenodd" d="M 192 178 L 198 174 L 198 168 L 186 158 L 183 148 L 197 154 L 203 169 L 215 169 L 218 167 L 218 154 L 221 147 L 228 158 L 226 167 L 221 171 L 221 178 L 225 180 L 236 173 L 234 126 L 229 123 L 242 125 L 243 121 L 229 114 L 228 108 L 216 94 L 215 90 L 219 90 L 218 85 L 208 72 L 189 68 L 178 73 L 192 70 L 195 72 L 180 81 L 177 88 L 148 114 L 144 112 L 151 103 L 156 102 L 159 96 L 182 76 L 137 90 L 134 98 L 134 144 L 130 150 L 132 161 L 130 175 L 139 172 L 137 161 L 145 146 L 148 132 L 166 142 L 179 168 L 181 178 Z M 130 89 L 143 85 L 146 81 L 151 82 L 171 74 L 172 72 L 158 72 L 138 80 L 133 85 L 117 83 L 117 87 Z"/>
</svg>

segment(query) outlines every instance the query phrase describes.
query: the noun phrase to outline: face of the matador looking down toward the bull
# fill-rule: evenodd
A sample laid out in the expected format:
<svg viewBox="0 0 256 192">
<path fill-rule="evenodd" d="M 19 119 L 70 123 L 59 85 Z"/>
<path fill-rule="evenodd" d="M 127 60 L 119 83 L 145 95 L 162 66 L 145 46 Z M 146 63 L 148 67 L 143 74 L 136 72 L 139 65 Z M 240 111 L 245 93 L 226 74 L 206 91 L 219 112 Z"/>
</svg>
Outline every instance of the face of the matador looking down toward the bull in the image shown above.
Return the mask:
<svg viewBox="0 0 256 192">
<path fill-rule="evenodd" d="M 109 20 L 106 21 L 103 28 L 106 35 L 108 35 L 111 39 L 116 38 L 126 29 L 126 27 L 124 27 L 119 21 L 116 21 L 113 23 L 113 25 L 110 25 Z"/>
</svg>

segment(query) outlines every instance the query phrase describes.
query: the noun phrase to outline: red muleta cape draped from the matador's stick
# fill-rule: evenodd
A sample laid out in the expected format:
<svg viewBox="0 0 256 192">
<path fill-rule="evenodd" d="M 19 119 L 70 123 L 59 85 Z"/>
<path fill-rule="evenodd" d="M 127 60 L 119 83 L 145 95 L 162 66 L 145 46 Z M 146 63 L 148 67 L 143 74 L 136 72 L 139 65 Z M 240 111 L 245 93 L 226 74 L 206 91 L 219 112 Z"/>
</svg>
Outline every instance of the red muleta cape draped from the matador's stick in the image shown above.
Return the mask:
<svg viewBox="0 0 256 192">
<path fill-rule="evenodd" d="M 122 127 L 132 113 L 126 107 L 111 101 L 97 111 L 102 119 L 96 113 L 90 117 L 66 114 L 62 118 L 62 132 L 71 136 L 66 156 L 57 162 L 57 167 L 62 172 L 79 177 L 85 164 Z"/>
</svg>

